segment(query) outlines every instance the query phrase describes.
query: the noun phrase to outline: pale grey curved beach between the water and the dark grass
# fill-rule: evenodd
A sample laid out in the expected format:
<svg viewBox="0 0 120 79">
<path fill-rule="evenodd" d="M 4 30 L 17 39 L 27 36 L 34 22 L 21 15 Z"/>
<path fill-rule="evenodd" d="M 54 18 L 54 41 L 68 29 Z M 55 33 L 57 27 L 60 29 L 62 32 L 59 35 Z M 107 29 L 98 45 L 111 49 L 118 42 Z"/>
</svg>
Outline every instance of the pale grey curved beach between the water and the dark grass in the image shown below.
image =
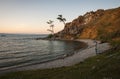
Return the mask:
<svg viewBox="0 0 120 79">
<path fill-rule="evenodd" d="M 59 58 L 56 60 L 36 64 L 36 65 L 29 65 L 26 67 L 20 67 L 10 70 L 5 70 L 3 73 L 7 72 L 16 72 L 16 71 L 25 71 L 25 70 L 36 70 L 36 69 L 51 69 L 51 68 L 59 68 L 59 67 L 67 67 L 72 66 L 77 63 L 83 62 L 86 58 L 95 56 L 95 43 L 93 40 L 90 39 L 80 39 L 80 40 L 71 40 L 71 41 L 80 41 L 86 43 L 88 46 L 84 49 L 79 49 L 77 53 L 74 51 L 72 55 L 66 55 L 63 58 Z M 98 43 L 99 45 L 99 52 L 102 53 L 110 49 L 110 45 L 108 43 Z M 2 73 L 2 72 L 1 72 Z"/>
</svg>

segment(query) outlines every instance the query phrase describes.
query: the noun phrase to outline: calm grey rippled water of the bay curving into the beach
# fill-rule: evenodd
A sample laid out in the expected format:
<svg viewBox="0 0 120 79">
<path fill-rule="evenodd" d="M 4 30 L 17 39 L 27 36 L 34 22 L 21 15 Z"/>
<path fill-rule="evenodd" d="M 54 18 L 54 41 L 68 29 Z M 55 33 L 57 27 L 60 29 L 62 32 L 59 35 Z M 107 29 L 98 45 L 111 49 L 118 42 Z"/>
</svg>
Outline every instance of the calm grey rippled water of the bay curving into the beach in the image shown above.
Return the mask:
<svg viewBox="0 0 120 79">
<path fill-rule="evenodd" d="M 44 35 L 6 35 L 0 37 L 0 70 L 40 64 L 71 54 L 82 47 L 73 41 L 35 40 Z"/>
</svg>

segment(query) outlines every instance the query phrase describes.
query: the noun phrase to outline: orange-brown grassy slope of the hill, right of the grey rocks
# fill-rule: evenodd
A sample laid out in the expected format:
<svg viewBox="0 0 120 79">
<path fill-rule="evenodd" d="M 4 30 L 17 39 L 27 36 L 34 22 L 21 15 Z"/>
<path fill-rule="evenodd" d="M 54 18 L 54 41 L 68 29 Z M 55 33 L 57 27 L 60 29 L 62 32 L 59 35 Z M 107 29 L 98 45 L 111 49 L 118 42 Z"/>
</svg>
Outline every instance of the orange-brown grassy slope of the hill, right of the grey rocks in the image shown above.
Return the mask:
<svg viewBox="0 0 120 79">
<path fill-rule="evenodd" d="M 103 41 L 115 37 L 120 37 L 120 7 L 105 10 L 102 16 L 91 20 L 79 35 L 79 38 Z"/>
</svg>

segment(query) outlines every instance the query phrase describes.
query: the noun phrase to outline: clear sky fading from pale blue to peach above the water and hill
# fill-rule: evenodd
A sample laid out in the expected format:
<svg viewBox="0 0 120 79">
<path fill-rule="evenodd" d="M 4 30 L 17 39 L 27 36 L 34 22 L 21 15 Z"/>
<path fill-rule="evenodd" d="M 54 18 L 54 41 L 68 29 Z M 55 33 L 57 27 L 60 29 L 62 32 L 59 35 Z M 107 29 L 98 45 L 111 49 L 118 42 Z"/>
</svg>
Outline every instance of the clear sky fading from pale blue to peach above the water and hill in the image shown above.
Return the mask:
<svg viewBox="0 0 120 79">
<path fill-rule="evenodd" d="M 64 28 L 59 14 L 70 22 L 97 9 L 120 7 L 120 0 L 0 0 L 0 33 L 48 34 L 48 20 L 54 30 Z"/>
</svg>

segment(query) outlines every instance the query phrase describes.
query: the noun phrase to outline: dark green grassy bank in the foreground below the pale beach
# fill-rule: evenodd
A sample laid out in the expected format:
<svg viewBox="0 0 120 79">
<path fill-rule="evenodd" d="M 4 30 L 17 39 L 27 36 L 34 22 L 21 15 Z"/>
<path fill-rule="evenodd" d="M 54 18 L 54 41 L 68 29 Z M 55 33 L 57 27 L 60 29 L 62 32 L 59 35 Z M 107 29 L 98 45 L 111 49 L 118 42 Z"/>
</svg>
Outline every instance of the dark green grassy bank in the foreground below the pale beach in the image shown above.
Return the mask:
<svg viewBox="0 0 120 79">
<path fill-rule="evenodd" d="M 120 79 L 120 40 L 113 49 L 71 67 L 13 72 L 0 79 Z"/>
</svg>

